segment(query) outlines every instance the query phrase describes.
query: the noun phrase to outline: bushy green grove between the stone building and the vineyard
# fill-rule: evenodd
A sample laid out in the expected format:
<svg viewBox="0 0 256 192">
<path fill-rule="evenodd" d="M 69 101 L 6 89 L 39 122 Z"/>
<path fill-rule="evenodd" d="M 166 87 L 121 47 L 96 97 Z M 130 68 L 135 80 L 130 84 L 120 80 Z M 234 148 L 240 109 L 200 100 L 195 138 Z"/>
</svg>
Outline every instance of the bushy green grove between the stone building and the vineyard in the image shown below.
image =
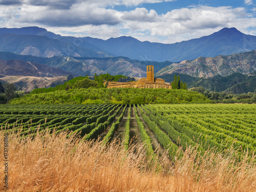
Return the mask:
<svg viewBox="0 0 256 192">
<path fill-rule="evenodd" d="M 210 103 L 205 95 L 187 90 L 168 89 L 69 89 L 47 93 L 33 93 L 15 98 L 11 104 L 80 104 L 80 103 Z"/>
</svg>

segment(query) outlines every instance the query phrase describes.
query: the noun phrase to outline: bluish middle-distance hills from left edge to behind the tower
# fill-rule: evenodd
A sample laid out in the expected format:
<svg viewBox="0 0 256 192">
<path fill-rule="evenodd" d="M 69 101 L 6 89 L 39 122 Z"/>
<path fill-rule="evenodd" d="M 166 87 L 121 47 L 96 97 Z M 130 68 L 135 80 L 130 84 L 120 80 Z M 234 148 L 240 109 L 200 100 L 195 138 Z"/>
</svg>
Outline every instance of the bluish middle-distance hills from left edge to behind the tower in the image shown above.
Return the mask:
<svg viewBox="0 0 256 192">
<path fill-rule="evenodd" d="M 146 77 L 146 66 L 154 65 L 155 72 L 170 65 L 172 62 L 139 61 L 127 57 L 68 57 L 54 56 L 50 58 L 29 55 L 17 55 L 0 52 L 0 59 L 19 59 L 27 62 L 39 62 L 46 66 L 55 67 L 74 73 L 73 76 L 93 76 L 95 73 L 111 75 L 124 75 L 132 77 Z M 1 73 L 0 73 L 1 74 Z"/>
</svg>

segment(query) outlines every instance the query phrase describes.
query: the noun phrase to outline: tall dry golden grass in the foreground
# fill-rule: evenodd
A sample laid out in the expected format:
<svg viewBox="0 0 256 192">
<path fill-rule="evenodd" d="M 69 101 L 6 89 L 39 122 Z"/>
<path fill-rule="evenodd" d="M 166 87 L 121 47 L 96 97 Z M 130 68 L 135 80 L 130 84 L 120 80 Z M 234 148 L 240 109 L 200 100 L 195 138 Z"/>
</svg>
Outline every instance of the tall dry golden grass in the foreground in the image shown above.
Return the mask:
<svg viewBox="0 0 256 192">
<path fill-rule="evenodd" d="M 8 191 L 256 190 L 255 157 L 244 154 L 236 162 L 236 151 L 223 155 L 212 150 L 196 158 L 196 151 L 190 148 L 175 163 L 162 156 L 158 165 L 160 162 L 164 168 L 156 172 L 154 167 L 148 168 L 142 146 L 126 153 L 114 142 L 108 147 L 100 142 L 79 143 L 79 139 L 67 139 L 66 133 L 26 140 L 17 135 L 9 135 Z M 3 131 L 0 137 L 3 164 Z M 3 165 L 0 173 L 3 181 Z M 4 189 L 3 182 L 0 189 Z"/>
</svg>

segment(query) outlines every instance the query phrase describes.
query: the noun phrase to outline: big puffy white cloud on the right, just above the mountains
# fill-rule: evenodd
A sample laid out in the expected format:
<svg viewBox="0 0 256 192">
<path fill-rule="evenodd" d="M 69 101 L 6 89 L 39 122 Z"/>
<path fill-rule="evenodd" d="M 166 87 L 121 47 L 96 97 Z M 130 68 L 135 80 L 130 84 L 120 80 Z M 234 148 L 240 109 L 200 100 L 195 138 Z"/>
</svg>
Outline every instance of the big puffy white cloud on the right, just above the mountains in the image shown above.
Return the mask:
<svg viewBox="0 0 256 192">
<path fill-rule="evenodd" d="M 255 24 L 254 18 L 246 17 L 245 9 L 200 6 L 172 10 L 159 15 L 158 22 L 153 23 L 126 20 L 123 26 L 131 31 L 166 37 L 164 42 L 176 42 L 209 35 L 224 27 L 241 30 Z"/>
</svg>

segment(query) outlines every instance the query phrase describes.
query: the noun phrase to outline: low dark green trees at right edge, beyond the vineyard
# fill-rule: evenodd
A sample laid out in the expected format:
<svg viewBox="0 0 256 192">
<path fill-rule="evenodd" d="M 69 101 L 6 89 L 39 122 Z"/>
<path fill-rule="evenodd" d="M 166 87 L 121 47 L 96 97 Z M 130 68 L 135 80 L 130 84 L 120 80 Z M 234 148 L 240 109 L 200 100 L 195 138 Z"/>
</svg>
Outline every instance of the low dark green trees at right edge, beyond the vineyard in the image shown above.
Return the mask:
<svg viewBox="0 0 256 192">
<path fill-rule="evenodd" d="M 203 87 L 190 88 L 189 91 L 197 91 L 204 94 L 215 103 L 256 103 L 256 93 L 234 94 L 233 92 L 214 92 Z"/>
</svg>

